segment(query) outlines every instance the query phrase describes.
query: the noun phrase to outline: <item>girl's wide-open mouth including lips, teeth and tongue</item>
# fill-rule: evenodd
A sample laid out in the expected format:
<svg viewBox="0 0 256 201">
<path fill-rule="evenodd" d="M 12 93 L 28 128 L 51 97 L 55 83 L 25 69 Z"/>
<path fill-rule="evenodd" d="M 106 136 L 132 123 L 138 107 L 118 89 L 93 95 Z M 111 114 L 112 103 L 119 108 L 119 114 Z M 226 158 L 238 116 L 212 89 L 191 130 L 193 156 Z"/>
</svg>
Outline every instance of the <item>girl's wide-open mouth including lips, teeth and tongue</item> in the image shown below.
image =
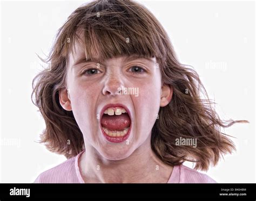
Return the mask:
<svg viewBox="0 0 256 201">
<path fill-rule="evenodd" d="M 108 141 L 123 142 L 130 134 L 130 111 L 123 105 L 106 105 L 102 110 L 100 125 Z"/>
</svg>

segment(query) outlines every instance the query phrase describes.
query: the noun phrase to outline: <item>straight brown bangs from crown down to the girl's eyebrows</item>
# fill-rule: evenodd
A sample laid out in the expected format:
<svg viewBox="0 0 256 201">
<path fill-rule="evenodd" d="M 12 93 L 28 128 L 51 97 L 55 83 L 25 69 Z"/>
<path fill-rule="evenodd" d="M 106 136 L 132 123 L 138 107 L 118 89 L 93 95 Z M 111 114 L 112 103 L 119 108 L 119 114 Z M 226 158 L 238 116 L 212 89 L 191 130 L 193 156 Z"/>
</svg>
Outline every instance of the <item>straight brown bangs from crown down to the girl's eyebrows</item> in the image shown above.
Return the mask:
<svg viewBox="0 0 256 201">
<path fill-rule="evenodd" d="M 73 54 L 78 42 L 84 48 L 86 60 L 123 55 L 165 60 L 163 30 L 143 6 L 135 9 L 133 2 L 122 1 L 118 4 L 111 1 L 93 4 L 88 10 L 83 8 L 83 16 L 78 12 L 79 8 L 72 14 L 79 13 L 72 23 L 68 23 L 69 29 L 64 35 L 69 36 L 70 42 L 64 42 L 63 56 L 67 58 L 70 51 Z"/>
</svg>

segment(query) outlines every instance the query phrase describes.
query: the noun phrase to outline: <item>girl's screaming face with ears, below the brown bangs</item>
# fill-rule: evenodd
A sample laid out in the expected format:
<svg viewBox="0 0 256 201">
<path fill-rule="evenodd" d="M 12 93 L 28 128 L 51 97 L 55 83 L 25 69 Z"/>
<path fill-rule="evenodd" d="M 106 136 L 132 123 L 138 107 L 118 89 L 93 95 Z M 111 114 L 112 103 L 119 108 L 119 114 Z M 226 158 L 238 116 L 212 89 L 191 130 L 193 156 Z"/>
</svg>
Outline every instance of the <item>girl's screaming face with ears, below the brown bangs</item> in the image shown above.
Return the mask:
<svg viewBox="0 0 256 201">
<path fill-rule="evenodd" d="M 161 87 L 154 58 L 84 58 L 84 49 L 76 46 L 60 104 L 72 110 L 85 147 L 92 146 L 105 159 L 125 159 L 151 138 L 159 107 L 170 102 L 172 90 Z"/>
</svg>

